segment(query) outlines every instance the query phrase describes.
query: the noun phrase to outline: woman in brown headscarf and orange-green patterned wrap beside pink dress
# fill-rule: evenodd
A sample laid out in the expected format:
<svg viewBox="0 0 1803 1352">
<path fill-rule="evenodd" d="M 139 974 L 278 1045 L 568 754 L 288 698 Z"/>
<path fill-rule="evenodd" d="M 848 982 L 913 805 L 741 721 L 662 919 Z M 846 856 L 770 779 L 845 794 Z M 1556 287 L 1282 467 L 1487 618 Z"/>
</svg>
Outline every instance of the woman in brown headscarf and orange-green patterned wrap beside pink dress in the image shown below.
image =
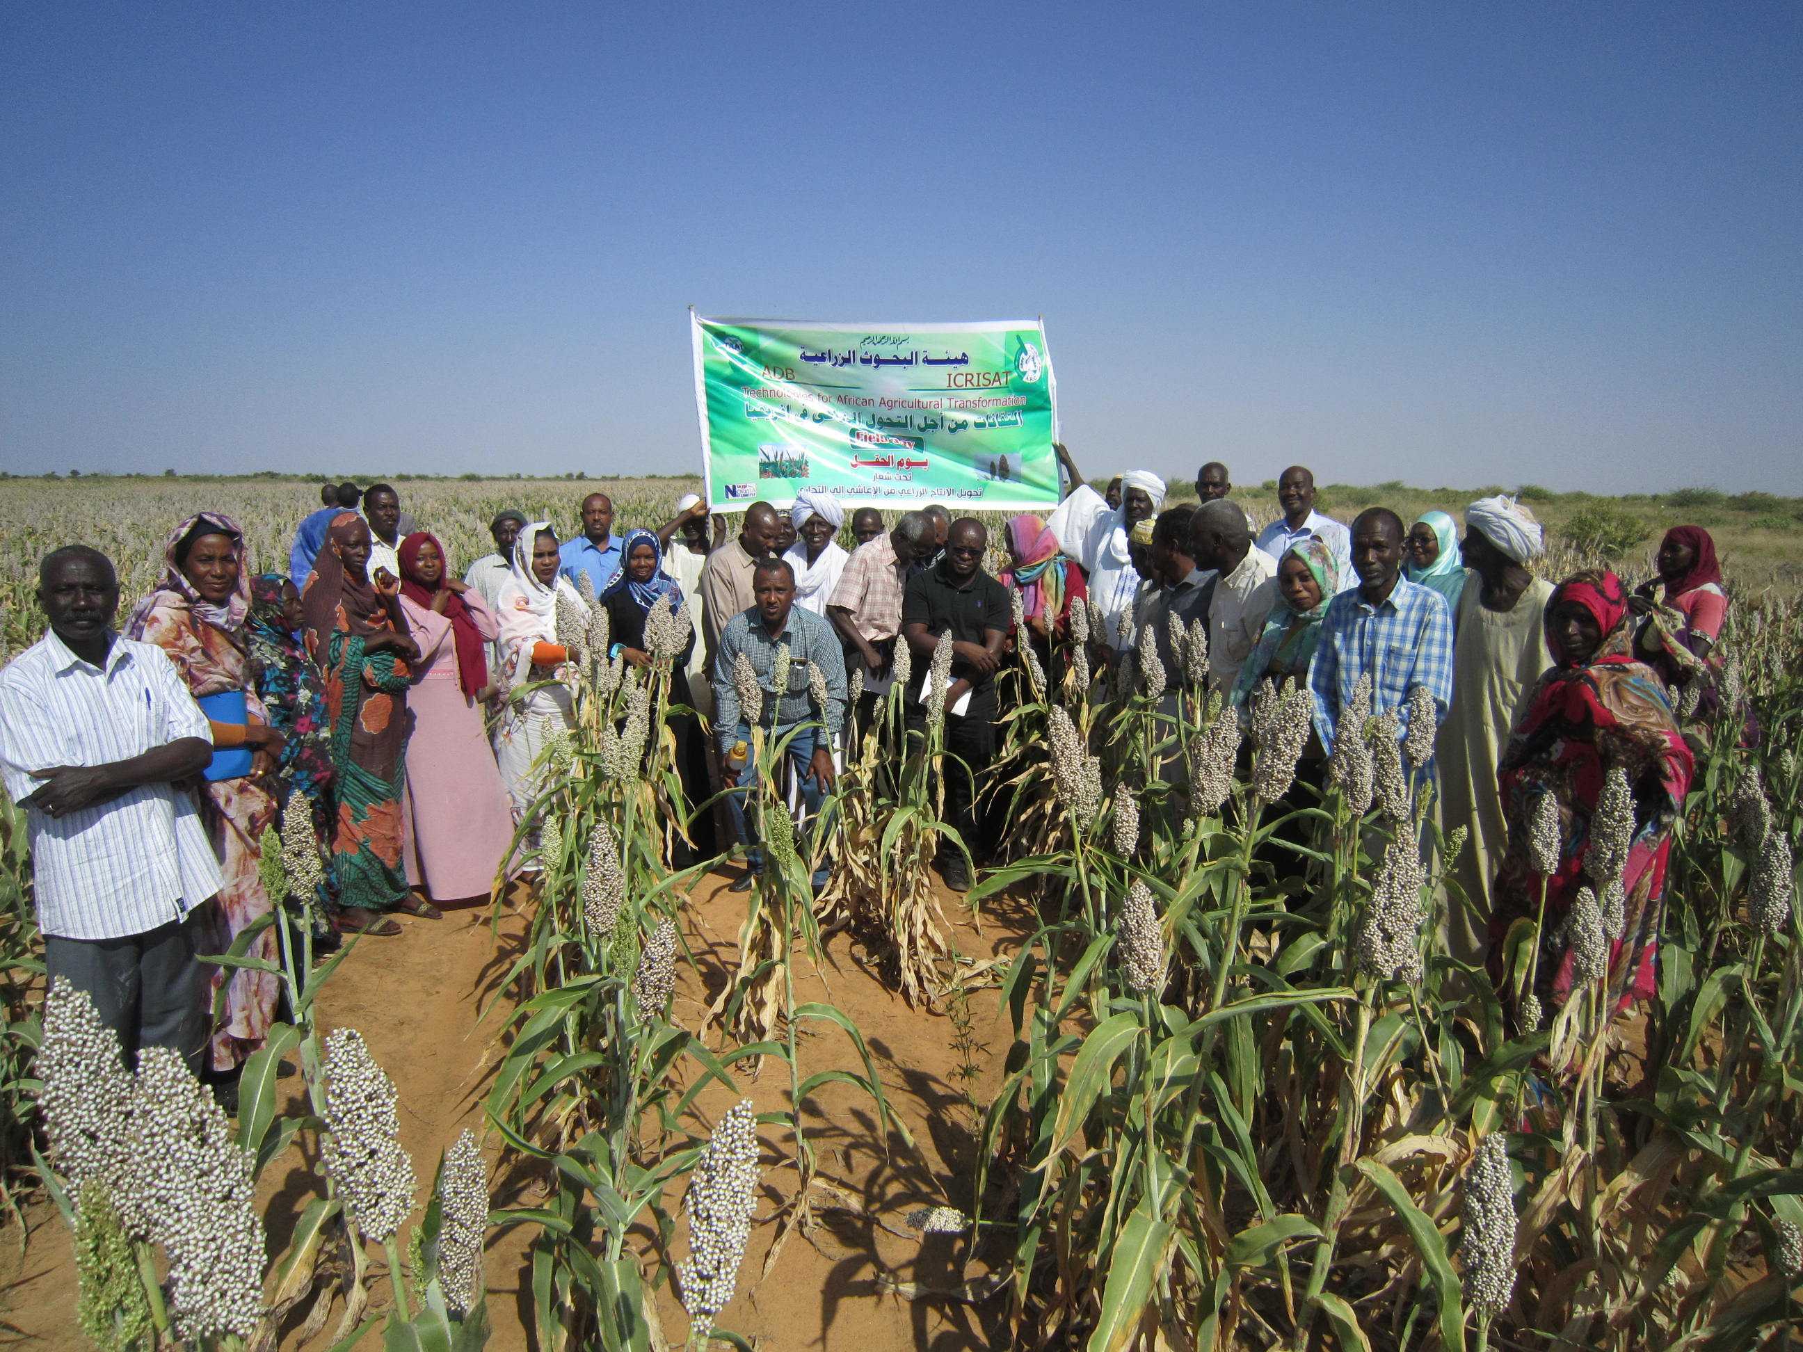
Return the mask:
<svg viewBox="0 0 1803 1352">
<path fill-rule="evenodd" d="M 406 790 L 409 663 L 420 656 L 400 611 L 400 579 L 370 577 L 370 523 L 341 512 L 301 593 L 307 653 L 332 717 L 337 822 L 332 863 L 346 914 L 433 916 L 407 891 L 400 795 Z"/>
</svg>

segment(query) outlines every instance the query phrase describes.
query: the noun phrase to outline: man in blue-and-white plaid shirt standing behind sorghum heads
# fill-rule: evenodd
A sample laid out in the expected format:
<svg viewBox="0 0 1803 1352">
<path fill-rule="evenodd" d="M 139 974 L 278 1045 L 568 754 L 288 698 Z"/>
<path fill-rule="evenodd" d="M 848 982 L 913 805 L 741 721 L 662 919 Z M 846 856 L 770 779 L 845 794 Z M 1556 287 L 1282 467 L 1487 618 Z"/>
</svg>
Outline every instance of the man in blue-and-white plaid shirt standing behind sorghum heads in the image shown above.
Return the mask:
<svg viewBox="0 0 1803 1352">
<path fill-rule="evenodd" d="M 1453 622 L 1439 591 L 1403 577 L 1403 517 L 1388 507 L 1352 523 L 1352 570 L 1359 584 L 1341 591 L 1322 620 L 1309 692 L 1314 730 L 1334 748 L 1340 710 L 1358 678 L 1370 674 L 1370 712 L 1396 710 L 1408 730 L 1408 692 L 1424 685 L 1437 719 L 1453 698 Z"/>
</svg>

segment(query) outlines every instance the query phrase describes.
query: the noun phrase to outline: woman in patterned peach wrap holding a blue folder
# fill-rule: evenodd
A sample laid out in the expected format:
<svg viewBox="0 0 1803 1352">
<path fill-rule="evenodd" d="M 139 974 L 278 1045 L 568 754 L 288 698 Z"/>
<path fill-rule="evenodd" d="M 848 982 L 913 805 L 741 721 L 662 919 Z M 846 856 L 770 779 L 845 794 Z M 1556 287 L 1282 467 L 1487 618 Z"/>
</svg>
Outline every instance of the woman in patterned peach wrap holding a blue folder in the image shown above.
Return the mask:
<svg viewBox="0 0 1803 1352">
<path fill-rule="evenodd" d="M 263 827 L 276 820 L 276 800 L 261 772 L 281 754 L 283 737 L 269 726 L 251 676 L 243 631 L 251 611 L 243 532 L 231 517 L 200 512 L 169 534 L 162 559 L 162 582 L 132 611 L 126 636 L 169 654 L 211 723 L 215 757 L 198 797 L 224 878 L 215 910 L 218 948 L 207 952 L 224 954 L 270 912 L 260 840 Z M 245 957 L 276 963 L 276 930 L 263 928 Z M 213 970 L 213 991 L 222 988 L 225 1013 L 213 1029 L 207 1065 L 222 1082 L 220 1098 L 231 1107 L 238 1071 L 263 1046 L 276 1017 L 281 982 L 274 972 L 220 966 Z"/>
</svg>

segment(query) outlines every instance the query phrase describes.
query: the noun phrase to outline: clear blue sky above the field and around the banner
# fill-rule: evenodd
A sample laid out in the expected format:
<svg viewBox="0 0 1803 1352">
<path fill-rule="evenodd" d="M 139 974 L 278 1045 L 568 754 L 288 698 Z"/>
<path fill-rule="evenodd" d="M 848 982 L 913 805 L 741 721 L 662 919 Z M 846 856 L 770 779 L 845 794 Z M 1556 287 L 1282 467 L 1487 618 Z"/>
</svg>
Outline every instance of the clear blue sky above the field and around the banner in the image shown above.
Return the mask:
<svg viewBox="0 0 1803 1352">
<path fill-rule="evenodd" d="M 1803 5 L 40 4 L 0 467 L 698 467 L 687 306 L 1085 470 L 1803 492 Z"/>
</svg>

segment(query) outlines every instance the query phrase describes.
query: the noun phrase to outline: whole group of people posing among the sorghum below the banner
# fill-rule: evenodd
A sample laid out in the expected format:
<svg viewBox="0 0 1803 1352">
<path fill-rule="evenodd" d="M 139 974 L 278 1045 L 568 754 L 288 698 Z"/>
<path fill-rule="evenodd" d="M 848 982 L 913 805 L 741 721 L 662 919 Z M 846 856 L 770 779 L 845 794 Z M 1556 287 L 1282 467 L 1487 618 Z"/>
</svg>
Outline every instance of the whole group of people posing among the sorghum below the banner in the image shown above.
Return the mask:
<svg viewBox="0 0 1803 1352">
<path fill-rule="evenodd" d="M 572 726 L 570 689 L 554 680 L 572 658 L 559 598 L 595 597 L 608 656 L 635 665 L 651 660 L 651 611 L 687 613 L 678 768 L 692 804 L 728 790 L 748 865 L 736 891 L 763 867 L 743 808 L 757 772 L 736 680 L 746 667 L 773 732 L 764 745 L 786 745 L 797 800 L 817 809 L 844 764 L 847 719 L 871 725 L 898 645 L 920 730 L 925 672 L 950 636 L 945 817 L 965 849 L 947 842 L 939 869 L 966 889 L 965 851 L 981 860 L 990 844 L 981 799 L 1010 649 L 1030 644 L 1051 671 L 1082 633 L 1093 672 L 1147 647 L 1170 667 L 1181 629 L 1206 635 L 1208 687 L 1235 716 L 1249 717 L 1268 683 L 1309 692 L 1304 784 L 1323 782 L 1347 710 L 1394 716 L 1397 737 L 1432 710 L 1442 824 L 1469 840 L 1450 923 L 1468 961 L 1495 957 L 1495 937 L 1538 905 L 1524 842 L 1542 799 L 1561 833 L 1549 912 L 1603 885 L 1587 872 L 1588 820 L 1625 770 L 1634 849 L 1610 988 L 1650 990 L 1664 853 L 1693 764 L 1680 705 L 1702 703 L 1680 692 L 1709 683 L 1727 606 L 1706 532 L 1671 530 L 1659 577 L 1634 593 L 1601 571 L 1552 586 L 1531 571 L 1542 528 L 1509 498 L 1471 503 L 1462 535 L 1442 512 L 1405 523 L 1372 508 L 1345 525 L 1314 510 L 1311 472 L 1291 467 L 1278 517 L 1257 530 L 1224 465 L 1203 467 L 1197 503 L 1165 507 L 1156 474 L 1123 472 L 1096 494 L 1058 456 L 1071 492 L 1046 517 L 1006 523 L 995 575 L 975 517 L 932 505 L 885 523 L 864 507 L 846 548 L 846 508 L 819 490 L 786 510 L 752 503 L 732 539 L 692 496 L 662 526 L 617 534 L 611 499 L 590 494 L 568 539 L 501 512 L 494 552 L 458 580 L 391 485 L 325 485 L 285 573 L 258 573 L 227 516 L 178 523 L 162 580 L 123 631 L 112 562 L 79 544 L 52 552 L 38 589 L 49 631 L 0 672 L 0 770 L 27 809 L 49 973 L 94 997 L 128 1055 L 178 1047 L 231 1092 L 276 1017 L 278 982 L 197 957 L 270 914 L 265 829 L 283 811 L 312 818 L 326 945 L 335 932 L 397 934 L 393 912 L 436 918 L 438 903 L 487 898 L 535 867 L 521 822 L 546 748 Z M 710 856 L 709 815 L 689 826 L 698 858 Z M 263 927 L 247 954 L 272 959 L 276 943 Z M 1569 963 L 1545 966 L 1569 982 Z M 207 1017 L 209 982 L 224 991 L 220 1019 Z"/>
</svg>

